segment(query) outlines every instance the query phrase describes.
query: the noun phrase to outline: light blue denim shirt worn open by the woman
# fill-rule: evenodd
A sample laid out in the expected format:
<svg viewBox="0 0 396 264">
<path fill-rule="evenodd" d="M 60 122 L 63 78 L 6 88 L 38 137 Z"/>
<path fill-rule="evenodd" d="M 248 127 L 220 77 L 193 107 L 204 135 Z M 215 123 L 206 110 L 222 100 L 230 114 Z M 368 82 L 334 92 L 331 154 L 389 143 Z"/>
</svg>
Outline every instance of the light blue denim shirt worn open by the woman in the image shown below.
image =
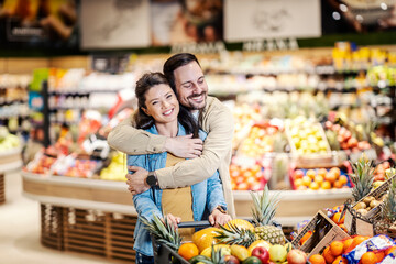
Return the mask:
<svg viewBox="0 0 396 264">
<path fill-rule="evenodd" d="M 152 134 L 158 134 L 155 125 L 146 130 Z M 183 125 L 178 124 L 177 135 L 185 135 L 186 131 Z M 199 138 L 205 140 L 207 134 L 204 131 L 199 131 Z M 129 166 L 139 166 L 143 167 L 148 172 L 160 169 L 166 166 L 167 153 L 156 153 L 156 154 L 146 154 L 146 155 L 128 155 L 128 165 Z M 131 173 L 131 172 L 130 172 Z M 144 217 L 148 220 L 153 219 L 153 215 L 163 218 L 162 213 L 162 189 L 158 186 L 133 196 L 133 204 L 139 213 L 139 216 Z M 221 186 L 221 180 L 219 177 L 219 172 L 216 173 L 208 179 L 195 184 L 191 186 L 193 195 L 193 213 L 194 220 L 199 221 L 207 219 L 211 211 L 216 207 L 221 206 L 227 209 L 227 204 L 224 200 L 224 195 Z M 175 201 L 177 202 L 177 201 Z M 176 216 L 177 217 L 177 216 Z M 183 219 L 182 219 L 183 221 Z M 153 256 L 153 245 L 151 242 L 150 232 L 144 229 L 144 223 L 139 219 L 134 229 L 134 245 L 133 249 L 144 255 Z"/>
</svg>

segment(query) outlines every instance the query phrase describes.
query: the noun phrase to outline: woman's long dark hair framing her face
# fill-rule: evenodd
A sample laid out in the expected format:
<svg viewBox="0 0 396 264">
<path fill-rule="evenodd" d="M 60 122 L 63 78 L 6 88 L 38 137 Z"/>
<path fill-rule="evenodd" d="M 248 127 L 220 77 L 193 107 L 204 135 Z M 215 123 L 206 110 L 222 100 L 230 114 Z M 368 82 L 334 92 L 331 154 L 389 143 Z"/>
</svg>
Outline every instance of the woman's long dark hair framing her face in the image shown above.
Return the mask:
<svg viewBox="0 0 396 264">
<path fill-rule="evenodd" d="M 153 117 L 147 116 L 142 108 L 145 106 L 145 95 L 146 92 L 156 85 L 169 85 L 169 81 L 166 79 L 165 75 L 162 73 L 147 73 L 144 74 L 138 81 L 135 88 L 135 95 L 138 98 L 139 110 L 134 116 L 134 121 L 138 129 L 150 129 L 155 120 Z M 184 106 L 179 107 L 179 114 L 177 116 L 178 122 L 185 128 L 186 134 L 194 134 L 194 138 L 198 138 L 198 122 L 193 117 L 190 111 L 187 110 Z"/>
</svg>

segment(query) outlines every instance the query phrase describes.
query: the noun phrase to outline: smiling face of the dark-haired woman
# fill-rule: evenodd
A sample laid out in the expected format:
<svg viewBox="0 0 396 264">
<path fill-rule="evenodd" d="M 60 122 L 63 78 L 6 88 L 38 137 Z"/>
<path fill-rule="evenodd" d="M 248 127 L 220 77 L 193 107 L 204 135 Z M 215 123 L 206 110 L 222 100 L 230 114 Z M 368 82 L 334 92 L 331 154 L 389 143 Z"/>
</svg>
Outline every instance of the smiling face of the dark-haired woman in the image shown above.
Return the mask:
<svg viewBox="0 0 396 264">
<path fill-rule="evenodd" d="M 143 111 L 153 117 L 156 123 L 168 123 L 177 120 L 179 102 L 168 85 L 155 85 L 145 92 Z"/>
</svg>

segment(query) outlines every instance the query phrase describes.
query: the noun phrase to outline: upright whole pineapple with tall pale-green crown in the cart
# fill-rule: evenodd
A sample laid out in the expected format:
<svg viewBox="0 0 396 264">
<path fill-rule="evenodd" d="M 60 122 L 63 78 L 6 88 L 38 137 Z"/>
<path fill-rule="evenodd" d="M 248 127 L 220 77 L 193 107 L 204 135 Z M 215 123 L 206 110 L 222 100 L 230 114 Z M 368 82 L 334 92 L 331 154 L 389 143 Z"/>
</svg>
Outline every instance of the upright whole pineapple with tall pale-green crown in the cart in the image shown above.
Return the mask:
<svg viewBox="0 0 396 264">
<path fill-rule="evenodd" d="M 277 196 L 270 197 L 268 187 L 265 186 L 263 194 L 255 195 L 250 193 L 253 199 L 254 207 L 252 208 L 253 226 L 256 238 L 266 240 L 272 244 L 284 244 L 286 239 L 282 229 L 273 226 L 273 218 L 276 212 L 279 199 Z"/>
</svg>

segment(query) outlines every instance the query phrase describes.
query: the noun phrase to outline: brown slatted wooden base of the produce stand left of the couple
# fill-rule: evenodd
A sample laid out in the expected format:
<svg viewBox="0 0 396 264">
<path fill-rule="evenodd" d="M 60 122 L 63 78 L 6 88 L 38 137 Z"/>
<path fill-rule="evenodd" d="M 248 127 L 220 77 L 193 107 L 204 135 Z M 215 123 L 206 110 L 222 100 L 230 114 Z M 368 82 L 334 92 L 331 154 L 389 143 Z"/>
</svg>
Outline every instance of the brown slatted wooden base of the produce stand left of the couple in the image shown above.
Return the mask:
<svg viewBox="0 0 396 264">
<path fill-rule="evenodd" d="M 135 216 L 42 205 L 43 245 L 134 262 Z"/>
</svg>

